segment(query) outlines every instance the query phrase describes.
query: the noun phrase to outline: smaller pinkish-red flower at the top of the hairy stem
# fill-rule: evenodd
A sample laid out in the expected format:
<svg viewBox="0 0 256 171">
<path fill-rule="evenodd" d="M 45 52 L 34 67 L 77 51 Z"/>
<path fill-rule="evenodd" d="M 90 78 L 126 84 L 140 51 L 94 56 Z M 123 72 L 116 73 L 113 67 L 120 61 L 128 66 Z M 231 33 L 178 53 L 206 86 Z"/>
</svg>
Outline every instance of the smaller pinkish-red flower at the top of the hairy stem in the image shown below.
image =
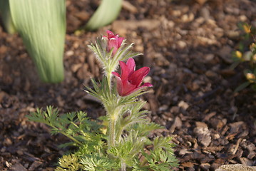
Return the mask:
<svg viewBox="0 0 256 171">
<path fill-rule="evenodd" d="M 113 55 L 115 55 L 116 51 L 118 51 L 118 48 L 120 48 L 122 42 L 123 42 L 123 37 L 119 37 L 118 34 L 114 34 L 112 31 L 107 31 L 108 36 L 103 36 L 103 38 L 108 38 L 108 46 L 107 46 L 107 51 L 111 51 L 113 48 Z"/>
</svg>

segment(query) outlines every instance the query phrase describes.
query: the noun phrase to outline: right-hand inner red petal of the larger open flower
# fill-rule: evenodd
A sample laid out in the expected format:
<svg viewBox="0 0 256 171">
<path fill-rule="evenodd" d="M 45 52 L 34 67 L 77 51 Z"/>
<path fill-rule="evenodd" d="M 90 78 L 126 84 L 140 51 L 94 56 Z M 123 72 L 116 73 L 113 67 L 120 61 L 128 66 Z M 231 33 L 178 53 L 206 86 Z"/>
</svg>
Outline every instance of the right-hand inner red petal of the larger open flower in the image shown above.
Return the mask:
<svg viewBox="0 0 256 171">
<path fill-rule="evenodd" d="M 148 75 L 149 71 L 149 67 L 140 68 L 135 71 L 131 76 L 129 76 L 128 80 L 130 81 L 130 83 L 138 87 L 142 83 L 143 78 Z"/>
</svg>

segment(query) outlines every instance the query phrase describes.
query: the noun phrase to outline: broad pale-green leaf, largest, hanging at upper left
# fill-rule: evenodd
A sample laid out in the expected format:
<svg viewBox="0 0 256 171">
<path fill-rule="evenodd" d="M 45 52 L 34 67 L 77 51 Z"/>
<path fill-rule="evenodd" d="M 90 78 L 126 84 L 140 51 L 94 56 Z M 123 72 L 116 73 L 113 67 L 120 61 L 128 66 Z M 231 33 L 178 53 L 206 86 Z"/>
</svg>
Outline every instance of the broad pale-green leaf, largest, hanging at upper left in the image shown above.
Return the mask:
<svg viewBox="0 0 256 171">
<path fill-rule="evenodd" d="M 43 82 L 63 81 L 65 0 L 10 0 L 11 17 Z"/>
</svg>

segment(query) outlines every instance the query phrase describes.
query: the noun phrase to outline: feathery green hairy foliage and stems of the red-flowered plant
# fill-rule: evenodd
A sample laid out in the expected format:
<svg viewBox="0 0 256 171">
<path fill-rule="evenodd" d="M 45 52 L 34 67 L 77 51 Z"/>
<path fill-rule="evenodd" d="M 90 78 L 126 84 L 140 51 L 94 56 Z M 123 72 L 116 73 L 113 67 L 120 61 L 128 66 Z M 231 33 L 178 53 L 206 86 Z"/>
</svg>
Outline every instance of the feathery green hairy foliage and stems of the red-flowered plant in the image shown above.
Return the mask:
<svg viewBox="0 0 256 171">
<path fill-rule="evenodd" d="M 126 47 L 122 42 L 113 55 L 115 47 L 109 49 L 107 41 L 109 40 L 98 38 L 96 45 L 89 46 L 103 64 L 105 76 L 98 83 L 92 80 L 93 88 L 86 88 L 87 93 L 101 100 L 106 116 L 91 120 L 81 111 L 58 115 L 58 110 L 50 106 L 46 111 L 31 113 L 28 118 L 51 126 L 52 133 L 62 133 L 72 140 L 61 147 L 78 147 L 75 152 L 59 159 L 57 171 L 171 170 L 178 165 L 173 154 L 172 138 L 148 138 L 152 130 L 162 127 L 145 118 L 148 111 L 143 110 L 145 102 L 138 96 L 146 92 L 143 88 L 138 88 L 127 95 L 120 94 L 118 85 L 111 79 L 118 61 L 128 59 L 131 54 L 136 53 L 128 51 L 132 45 Z M 145 73 L 139 74 L 143 74 L 140 78 L 145 76 Z M 142 81 L 138 82 L 137 86 L 140 86 Z"/>
</svg>

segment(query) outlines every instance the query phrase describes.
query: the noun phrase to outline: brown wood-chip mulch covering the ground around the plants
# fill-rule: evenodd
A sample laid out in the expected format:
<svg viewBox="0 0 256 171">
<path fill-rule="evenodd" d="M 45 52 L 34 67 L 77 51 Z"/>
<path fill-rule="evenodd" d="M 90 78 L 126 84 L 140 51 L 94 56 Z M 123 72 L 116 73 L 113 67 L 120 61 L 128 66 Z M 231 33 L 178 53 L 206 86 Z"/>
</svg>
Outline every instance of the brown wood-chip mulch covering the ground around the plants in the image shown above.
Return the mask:
<svg viewBox="0 0 256 171">
<path fill-rule="evenodd" d="M 86 47 L 106 30 L 135 43 L 137 68 L 149 66 L 153 88 L 141 98 L 150 120 L 173 136 L 176 170 L 215 170 L 223 164 L 256 165 L 256 93 L 245 82 L 245 65 L 230 69 L 240 42 L 239 22 L 256 24 L 256 1 L 129 0 L 118 19 L 98 31 L 78 32 L 99 1 L 67 0 L 65 81 L 41 83 L 19 35 L 0 27 L 0 170 L 54 170 L 68 141 L 46 125 L 29 122 L 36 108 L 54 105 L 60 113 L 84 110 L 104 115 L 84 85 L 101 78 Z"/>
</svg>

